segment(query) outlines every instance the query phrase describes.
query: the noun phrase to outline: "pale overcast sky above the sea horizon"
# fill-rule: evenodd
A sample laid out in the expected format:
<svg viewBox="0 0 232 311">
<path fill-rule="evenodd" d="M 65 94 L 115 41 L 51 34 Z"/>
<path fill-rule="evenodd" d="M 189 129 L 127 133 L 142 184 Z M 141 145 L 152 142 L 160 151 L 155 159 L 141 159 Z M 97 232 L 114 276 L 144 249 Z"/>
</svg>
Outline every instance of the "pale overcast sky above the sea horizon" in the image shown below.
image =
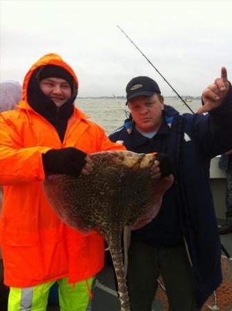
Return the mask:
<svg viewBox="0 0 232 311">
<path fill-rule="evenodd" d="M 232 77 L 232 1 L 6 1 L 1 82 L 57 53 L 75 70 L 79 96 L 125 95 L 137 75 L 174 95 L 119 25 L 181 95 L 201 95 L 226 66 Z M 231 79 L 232 80 L 232 79 Z"/>
</svg>

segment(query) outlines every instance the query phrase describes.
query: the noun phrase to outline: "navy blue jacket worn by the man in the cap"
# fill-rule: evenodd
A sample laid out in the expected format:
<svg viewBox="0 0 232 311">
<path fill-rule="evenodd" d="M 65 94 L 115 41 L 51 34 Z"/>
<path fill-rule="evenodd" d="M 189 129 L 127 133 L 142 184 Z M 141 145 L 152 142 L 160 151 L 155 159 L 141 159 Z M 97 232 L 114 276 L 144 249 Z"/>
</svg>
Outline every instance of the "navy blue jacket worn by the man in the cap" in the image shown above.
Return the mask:
<svg viewBox="0 0 232 311">
<path fill-rule="evenodd" d="M 222 282 L 221 243 L 209 183 L 209 167 L 211 158 L 232 149 L 232 88 L 230 86 L 224 103 L 210 113 L 180 115 L 171 106 L 164 106 L 164 116 L 162 126 L 151 140 L 136 131 L 130 118 L 109 138 L 113 142 L 122 142 L 130 151 L 157 151 L 170 156 L 175 182 L 164 194 L 159 214 L 163 209 L 171 208 L 166 206 L 165 198 L 172 191 L 173 203 L 177 205 L 177 216 L 173 218 L 173 223 L 178 226 L 175 239 L 177 241 L 180 231 L 186 239 L 195 275 L 197 307 L 200 307 Z M 157 146 L 158 150 L 155 149 Z M 172 216 L 167 219 L 168 225 L 171 224 L 170 218 Z M 164 221 L 165 218 L 162 218 L 162 225 Z M 155 219 L 145 227 L 153 224 Z M 139 229 L 140 236 L 144 234 L 144 240 L 151 244 L 144 228 Z M 137 232 L 133 234 L 136 235 Z"/>
</svg>

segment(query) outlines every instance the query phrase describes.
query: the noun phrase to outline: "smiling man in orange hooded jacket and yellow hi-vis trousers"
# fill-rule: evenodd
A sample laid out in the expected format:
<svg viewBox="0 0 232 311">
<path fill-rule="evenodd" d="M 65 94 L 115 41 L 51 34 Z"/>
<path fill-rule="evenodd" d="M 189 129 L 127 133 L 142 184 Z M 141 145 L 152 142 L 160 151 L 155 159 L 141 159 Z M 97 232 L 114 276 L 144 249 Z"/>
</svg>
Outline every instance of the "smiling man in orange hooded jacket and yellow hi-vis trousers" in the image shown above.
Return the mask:
<svg viewBox="0 0 232 311">
<path fill-rule="evenodd" d="M 45 55 L 24 79 L 18 110 L 0 114 L 0 237 L 9 311 L 45 311 L 55 281 L 61 310 L 84 311 L 93 276 L 104 265 L 102 238 L 67 227 L 42 186 L 46 173 L 90 173 L 87 153 L 125 149 L 75 108 L 78 86 L 59 55 Z"/>
</svg>

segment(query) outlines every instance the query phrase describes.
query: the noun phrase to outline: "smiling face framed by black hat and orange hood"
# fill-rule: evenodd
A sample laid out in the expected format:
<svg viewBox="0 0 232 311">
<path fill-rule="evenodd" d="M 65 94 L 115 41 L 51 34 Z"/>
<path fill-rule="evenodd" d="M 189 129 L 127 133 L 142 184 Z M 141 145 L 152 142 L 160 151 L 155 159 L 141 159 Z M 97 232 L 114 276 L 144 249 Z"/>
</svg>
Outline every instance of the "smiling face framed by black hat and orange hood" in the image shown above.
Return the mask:
<svg viewBox="0 0 232 311">
<path fill-rule="evenodd" d="M 39 82 L 41 91 L 50 97 L 57 107 L 62 106 L 72 95 L 70 85 L 65 79 L 48 77 Z"/>
</svg>

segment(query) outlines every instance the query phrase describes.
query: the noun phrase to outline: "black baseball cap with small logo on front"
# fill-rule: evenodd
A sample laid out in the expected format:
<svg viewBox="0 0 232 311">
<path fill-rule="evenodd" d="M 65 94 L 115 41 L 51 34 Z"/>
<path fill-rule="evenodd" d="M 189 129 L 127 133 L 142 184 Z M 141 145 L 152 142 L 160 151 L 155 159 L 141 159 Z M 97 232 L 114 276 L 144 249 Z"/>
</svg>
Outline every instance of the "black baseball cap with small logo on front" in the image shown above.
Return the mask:
<svg viewBox="0 0 232 311">
<path fill-rule="evenodd" d="M 126 86 L 126 105 L 134 97 L 152 96 L 155 93 L 161 94 L 158 84 L 153 79 L 146 76 L 134 77 Z"/>
</svg>

